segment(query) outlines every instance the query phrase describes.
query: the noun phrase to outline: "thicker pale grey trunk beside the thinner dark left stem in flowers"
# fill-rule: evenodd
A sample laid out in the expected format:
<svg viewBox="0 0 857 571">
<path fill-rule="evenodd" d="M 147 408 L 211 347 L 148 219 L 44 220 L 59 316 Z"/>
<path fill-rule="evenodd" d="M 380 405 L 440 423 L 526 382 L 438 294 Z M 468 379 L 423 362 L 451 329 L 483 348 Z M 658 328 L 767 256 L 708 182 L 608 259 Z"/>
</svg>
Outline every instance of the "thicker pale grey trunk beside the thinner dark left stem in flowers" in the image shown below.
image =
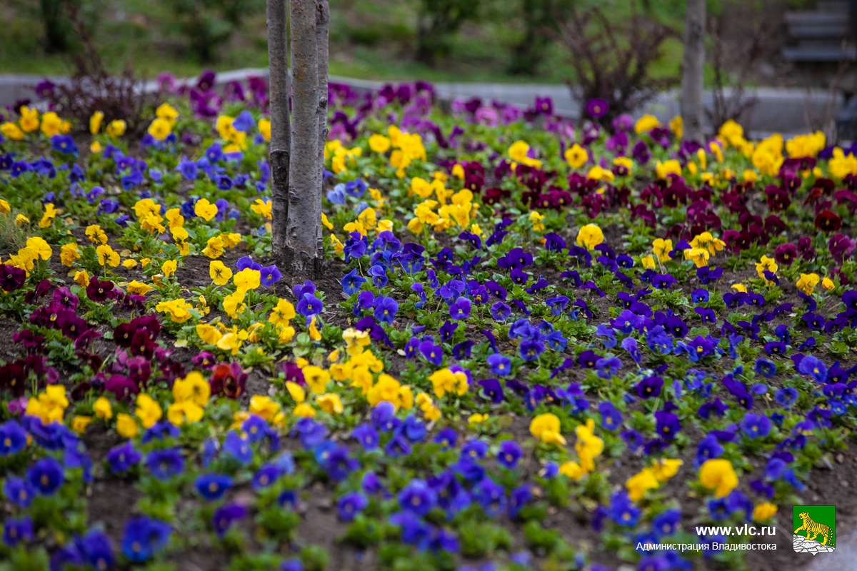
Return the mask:
<svg viewBox="0 0 857 571">
<path fill-rule="evenodd" d="M 291 0 L 291 163 L 285 267 L 293 275 L 316 276 L 323 256 L 321 170 L 318 167 L 319 57 L 315 0 Z M 327 98 L 327 93 L 325 93 Z"/>
</svg>

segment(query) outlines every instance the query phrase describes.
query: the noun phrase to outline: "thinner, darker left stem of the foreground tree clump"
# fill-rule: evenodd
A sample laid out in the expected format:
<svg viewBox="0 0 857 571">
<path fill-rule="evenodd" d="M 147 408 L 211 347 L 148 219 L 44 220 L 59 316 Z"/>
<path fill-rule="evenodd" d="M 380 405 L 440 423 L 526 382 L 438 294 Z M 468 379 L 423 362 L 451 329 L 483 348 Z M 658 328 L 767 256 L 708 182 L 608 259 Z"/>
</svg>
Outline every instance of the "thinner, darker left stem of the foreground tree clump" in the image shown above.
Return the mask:
<svg viewBox="0 0 857 571">
<path fill-rule="evenodd" d="M 286 27 L 288 0 L 267 0 L 268 68 L 271 89 L 271 197 L 273 218 L 273 255 L 284 259 L 285 235 L 289 221 L 289 155 L 291 122 L 289 120 L 289 33 Z"/>
</svg>

